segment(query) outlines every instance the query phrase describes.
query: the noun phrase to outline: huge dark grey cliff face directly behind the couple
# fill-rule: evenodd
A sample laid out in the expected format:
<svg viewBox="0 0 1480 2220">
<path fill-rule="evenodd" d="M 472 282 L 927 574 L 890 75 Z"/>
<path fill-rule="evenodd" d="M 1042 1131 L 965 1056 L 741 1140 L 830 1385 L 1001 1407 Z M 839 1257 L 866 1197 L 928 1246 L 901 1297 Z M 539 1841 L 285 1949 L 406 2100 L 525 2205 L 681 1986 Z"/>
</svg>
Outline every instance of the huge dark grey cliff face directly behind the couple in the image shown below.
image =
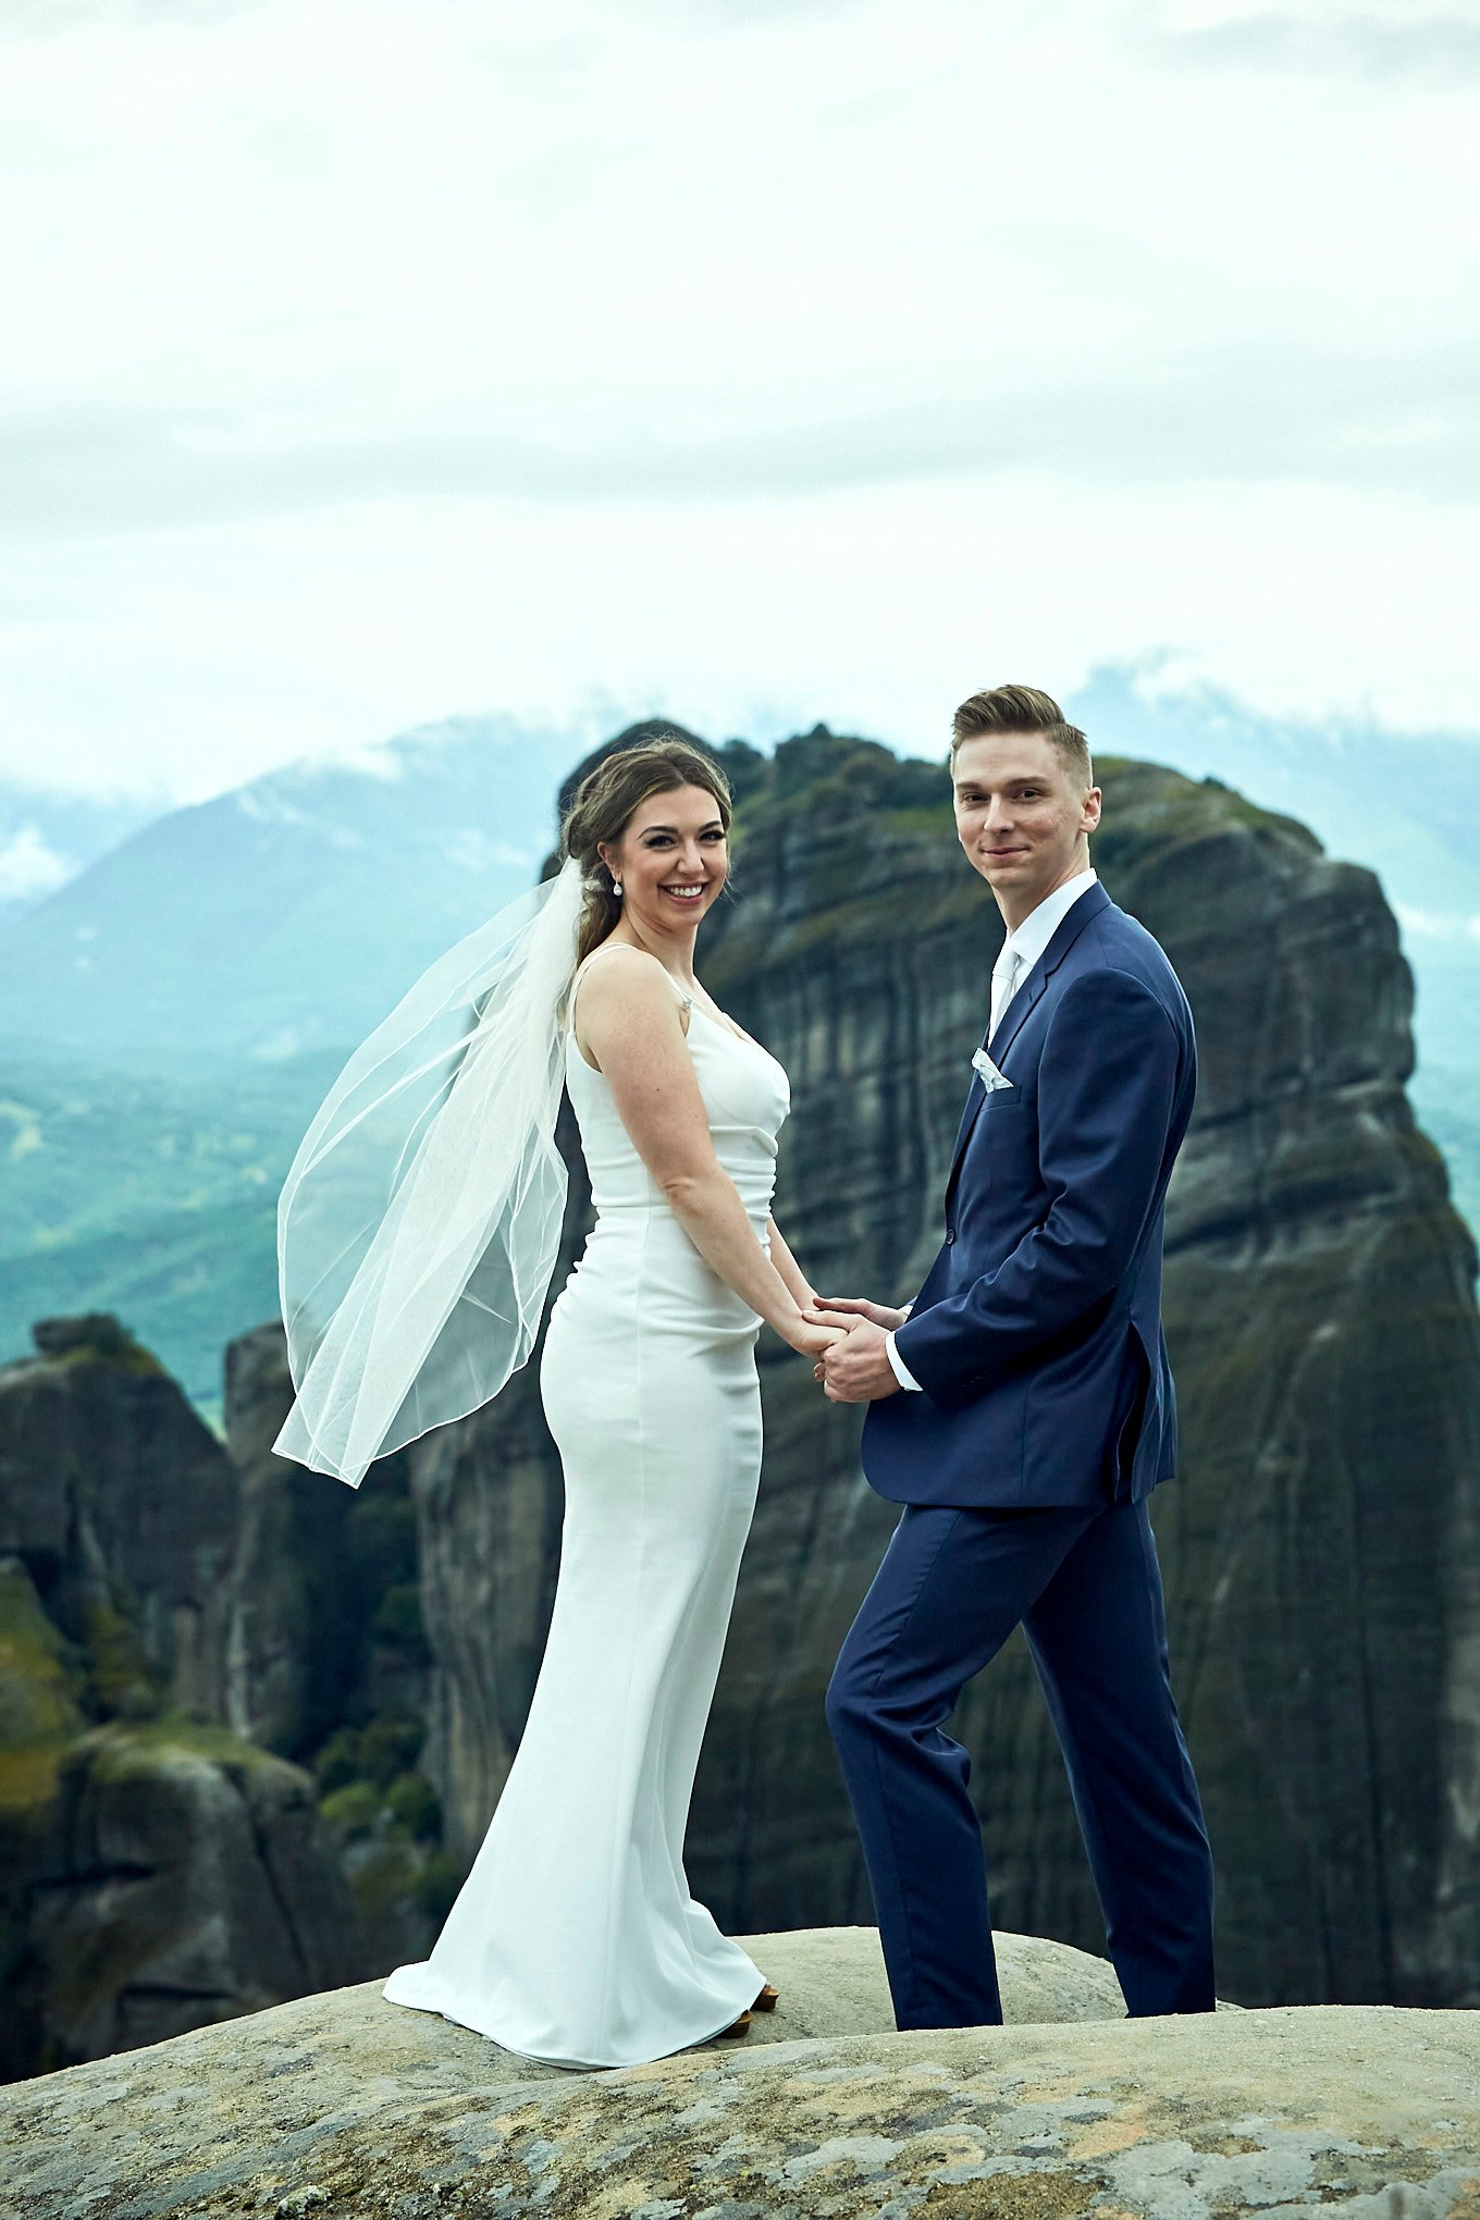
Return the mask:
<svg viewBox="0 0 1480 2220">
<path fill-rule="evenodd" d="M 777 1217 L 821 1292 L 905 1299 L 939 1243 L 996 910 L 939 770 L 830 735 L 734 761 L 741 892 L 706 926 L 701 970 L 792 1077 Z M 1473 2000 L 1476 1259 L 1402 1090 L 1396 924 L 1369 872 L 1225 788 L 1136 764 L 1103 766 L 1103 784 L 1096 864 L 1176 963 L 1203 1054 L 1167 1239 L 1183 1472 L 1154 1518 L 1223 1985 L 1260 2002 Z M 568 1254 L 586 1219 L 577 1159 Z M 777 1345 L 761 1379 L 761 1505 L 690 1878 L 732 1929 L 865 1920 L 823 1689 L 894 1512 L 861 1479 L 859 1416 Z M 466 1865 L 559 1554 L 535 1368 L 406 1454 L 433 1652 L 424 1763 Z M 1021 1643 L 967 1689 L 956 1732 L 999 1918 L 1098 1947 Z"/>
</svg>

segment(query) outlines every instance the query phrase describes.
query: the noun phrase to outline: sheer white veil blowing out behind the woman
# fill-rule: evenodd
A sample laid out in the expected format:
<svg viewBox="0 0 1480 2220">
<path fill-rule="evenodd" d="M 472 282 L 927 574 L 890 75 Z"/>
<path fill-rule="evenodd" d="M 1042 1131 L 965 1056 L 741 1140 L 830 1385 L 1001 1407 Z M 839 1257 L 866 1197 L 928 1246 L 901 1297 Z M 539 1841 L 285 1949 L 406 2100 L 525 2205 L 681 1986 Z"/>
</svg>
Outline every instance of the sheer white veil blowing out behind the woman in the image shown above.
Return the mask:
<svg viewBox="0 0 1480 2220">
<path fill-rule="evenodd" d="M 555 1270 L 570 857 L 439 957 L 355 1050 L 277 1203 L 297 1401 L 273 1443 L 359 1487 L 377 1456 L 499 1392 Z"/>
</svg>

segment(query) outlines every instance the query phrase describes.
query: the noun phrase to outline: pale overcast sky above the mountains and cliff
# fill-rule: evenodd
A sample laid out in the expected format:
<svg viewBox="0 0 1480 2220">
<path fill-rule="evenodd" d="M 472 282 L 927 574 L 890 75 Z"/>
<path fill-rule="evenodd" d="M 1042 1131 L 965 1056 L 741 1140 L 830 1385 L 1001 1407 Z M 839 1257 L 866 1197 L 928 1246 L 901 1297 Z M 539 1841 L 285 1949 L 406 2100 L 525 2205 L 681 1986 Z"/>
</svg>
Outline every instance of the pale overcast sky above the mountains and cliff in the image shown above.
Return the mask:
<svg viewBox="0 0 1480 2220">
<path fill-rule="evenodd" d="M 1480 733 L 1478 91 L 1473 0 L 4 0 L 0 779 L 1152 650 Z"/>
</svg>

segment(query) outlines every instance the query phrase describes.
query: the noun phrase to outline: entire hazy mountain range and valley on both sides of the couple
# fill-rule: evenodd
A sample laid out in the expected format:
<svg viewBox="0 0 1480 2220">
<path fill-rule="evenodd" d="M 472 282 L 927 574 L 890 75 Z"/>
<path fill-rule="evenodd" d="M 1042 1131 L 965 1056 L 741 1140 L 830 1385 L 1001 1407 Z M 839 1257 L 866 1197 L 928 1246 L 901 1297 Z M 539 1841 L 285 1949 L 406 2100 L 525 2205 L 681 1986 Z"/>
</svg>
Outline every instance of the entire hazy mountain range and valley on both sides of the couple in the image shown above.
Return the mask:
<svg viewBox="0 0 1480 2220">
<path fill-rule="evenodd" d="M 1480 1223 L 1480 746 L 1274 726 L 1147 697 L 1145 675 L 1096 677 L 1072 713 L 1103 753 L 1214 775 L 1378 870 L 1418 975 L 1413 1099 Z M 581 753 L 450 719 L 146 824 L 124 810 L 67 884 L 0 906 L 0 1361 L 38 1316 L 118 1310 L 215 1407 L 222 1345 L 275 1305 L 277 1188 L 324 1088 L 533 881 Z M 55 855 L 107 837 L 107 808 L 69 808 L 24 819 Z"/>
</svg>

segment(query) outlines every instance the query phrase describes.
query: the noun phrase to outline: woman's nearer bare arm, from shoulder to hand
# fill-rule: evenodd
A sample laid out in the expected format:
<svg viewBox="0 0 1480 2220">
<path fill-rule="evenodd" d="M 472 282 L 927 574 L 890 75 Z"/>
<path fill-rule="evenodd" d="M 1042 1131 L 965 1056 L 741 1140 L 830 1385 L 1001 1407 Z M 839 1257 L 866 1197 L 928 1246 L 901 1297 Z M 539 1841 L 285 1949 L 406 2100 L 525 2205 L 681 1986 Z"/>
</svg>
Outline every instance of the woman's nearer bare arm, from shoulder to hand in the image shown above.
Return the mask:
<svg viewBox="0 0 1480 2220">
<path fill-rule="evenodd" d="M 841 1339 L 801 1316 L 710 1141 L 679 999 L 657 957 L 612 948 L 581 977 L 577 1048 L 606 1077 L 632 1148 L 712 1272 L 794 1350 Z M 825 1336 L 825 1339 L 823 1339 Z"/>
</svg>

